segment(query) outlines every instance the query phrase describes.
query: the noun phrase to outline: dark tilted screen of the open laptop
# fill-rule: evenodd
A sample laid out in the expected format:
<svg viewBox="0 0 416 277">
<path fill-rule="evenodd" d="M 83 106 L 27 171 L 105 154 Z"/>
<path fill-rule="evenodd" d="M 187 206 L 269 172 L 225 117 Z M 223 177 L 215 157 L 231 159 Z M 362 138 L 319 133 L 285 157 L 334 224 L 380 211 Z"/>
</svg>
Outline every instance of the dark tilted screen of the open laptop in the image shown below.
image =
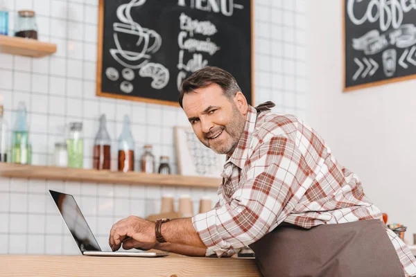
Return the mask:
<svg viewBox="0 0 416 277">
<path fill-rule="evenodd" d="M 94 238 L 91 229 L 85 220 L 83 213 L 81 213 L 78 204 L 72 195 L 65 193 L 58 193 L 58 191 L 49 190 L 56 206 L 67 224 L 69 231 L 78 244 L 80 251 L 101 251 L 98 242 Z"/>
</svg>

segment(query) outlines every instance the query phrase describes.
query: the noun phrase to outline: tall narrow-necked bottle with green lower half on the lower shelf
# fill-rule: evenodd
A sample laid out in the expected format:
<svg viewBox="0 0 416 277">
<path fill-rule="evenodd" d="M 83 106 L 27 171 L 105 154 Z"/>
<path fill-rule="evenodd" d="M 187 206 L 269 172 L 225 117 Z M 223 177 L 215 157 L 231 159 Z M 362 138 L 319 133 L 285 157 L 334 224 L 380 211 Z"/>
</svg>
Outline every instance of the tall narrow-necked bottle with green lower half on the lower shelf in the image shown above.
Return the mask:
<svg viewBox="0 0 416 277">
<path fill-rule="evenodd" d="M 12 131 L 12 163 L 32 163 L 32 146 L 29 143 L 28 111 L 24 102 L 19 102 Z"/>
</svg>

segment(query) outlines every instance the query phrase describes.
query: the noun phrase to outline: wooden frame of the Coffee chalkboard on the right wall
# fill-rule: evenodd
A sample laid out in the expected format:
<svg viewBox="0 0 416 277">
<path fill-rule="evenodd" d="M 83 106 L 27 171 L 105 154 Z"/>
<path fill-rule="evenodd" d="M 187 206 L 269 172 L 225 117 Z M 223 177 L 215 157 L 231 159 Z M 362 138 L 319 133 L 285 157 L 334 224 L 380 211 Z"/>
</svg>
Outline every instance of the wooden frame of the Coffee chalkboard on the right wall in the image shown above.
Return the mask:
<svg viewBox="0 0 416 277">
<path fill-rule="evenodd" d="M 380 80 L 380 81 L 376 81 L 376 82 L 368 82 L 365 84 L 356 84 L 353 86 L 349 86 L 347 87 L 347 68 L 346 68 L 346 61 L 347 61 L 347 49 L 346 49 L 346 21 L 347 21 L 347 17 L 346 17 L 346 6 L 347 6 L 347 1 L 348 0 L 343 0 L 342 1 L 342 19 L 343 19 L 343 31 L 342 31 L 342 43 L 343 43 L 343 92 L 349 92 L 349 91 L 355 91 L 358 89 L 366 89 L 366 88 L 370 88 L 370 87 L 377 87 L 377 86 L 381 86 L 383 84 L 391 84 L 391 83 L 395 83 L 395 82 L 403 82 L 403 81 L 407 81 L 407 80 L 412 80 L 416 78 L 416 74 L 411 74 L 411 75 L 406 75 L 406 76 L 401 76 L 401 77 L 395 77 L 395 78 L 390 78 L 387 80 Z"/>
</svg>

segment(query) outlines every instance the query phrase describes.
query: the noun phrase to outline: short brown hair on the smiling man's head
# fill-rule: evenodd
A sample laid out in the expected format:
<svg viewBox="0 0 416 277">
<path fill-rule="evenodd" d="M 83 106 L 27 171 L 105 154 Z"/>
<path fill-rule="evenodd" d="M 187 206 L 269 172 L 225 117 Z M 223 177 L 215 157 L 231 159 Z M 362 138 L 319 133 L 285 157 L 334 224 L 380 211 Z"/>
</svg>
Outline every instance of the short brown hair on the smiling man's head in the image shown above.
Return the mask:
<svg viewBox="0 0 416 277">
<path fill-rule="evenodd" d="M 218 84 L 223 89 L 225 96 L 230 99 L 241 91 L 236 79 L 229 72 L 216 66 L 206 66 L 195 71 L 182 82 L 179 93 L 180 107 L 183 108 L 182 100 L 185 93 L 193 92 L 201 87 L 208 87 L 210 84 Z"/>
</svg>

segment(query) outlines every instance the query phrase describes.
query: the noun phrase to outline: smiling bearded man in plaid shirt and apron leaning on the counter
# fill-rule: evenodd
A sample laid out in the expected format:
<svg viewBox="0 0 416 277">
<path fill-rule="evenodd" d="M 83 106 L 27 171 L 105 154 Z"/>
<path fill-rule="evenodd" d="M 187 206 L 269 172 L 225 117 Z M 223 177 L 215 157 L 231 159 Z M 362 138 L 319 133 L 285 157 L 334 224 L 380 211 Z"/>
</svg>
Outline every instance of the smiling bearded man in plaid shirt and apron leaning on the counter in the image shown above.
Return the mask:
<svg viewBox="0 0 416 277">
<path fill-rule="evenodd" d="M 251 107 L 216 67 L 184 80 L 179 102 L 198 139 L 227 155 L 220 200 L 191 218 L 121 220 L 110 232 L 113 251 L 123 244 L 219 257 L 249 245 L 264 276 L 416 275 L 415 258 L 358 177 L 302 120 L 272 114 L 271 102 Z"/>
</svg>

